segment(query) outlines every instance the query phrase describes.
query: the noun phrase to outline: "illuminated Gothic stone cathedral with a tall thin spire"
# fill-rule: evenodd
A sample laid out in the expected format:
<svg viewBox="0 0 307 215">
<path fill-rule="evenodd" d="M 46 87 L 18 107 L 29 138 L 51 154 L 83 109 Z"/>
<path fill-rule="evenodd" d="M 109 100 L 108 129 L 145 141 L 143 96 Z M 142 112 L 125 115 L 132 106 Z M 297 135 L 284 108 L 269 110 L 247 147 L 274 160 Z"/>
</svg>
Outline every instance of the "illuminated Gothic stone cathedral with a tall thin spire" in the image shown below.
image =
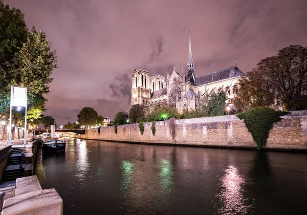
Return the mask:
<svg viewBox="0 0 307 215">
<path fill-rule="evenodd" d="M 197 76 L 191 47 L 191 31 L 189 34 L 189 57 L 187 74 L 183 68 L 177 72 L 167 72 L 167 77 L 161 75 L 150 76 L 143 69 L 135 70 L 132 74 L 131 105 L 143 104 L 149 109 L 159 105 L 174 106 L 178 112 L 197 109 L 202 100 L 213 93 L 224 91 L 225 101 L 232 106 L 232 100 L 238 93 L 238 79 L 245 74 L 235 66 L 215 71 L 210 74 Z"/>
</svg>

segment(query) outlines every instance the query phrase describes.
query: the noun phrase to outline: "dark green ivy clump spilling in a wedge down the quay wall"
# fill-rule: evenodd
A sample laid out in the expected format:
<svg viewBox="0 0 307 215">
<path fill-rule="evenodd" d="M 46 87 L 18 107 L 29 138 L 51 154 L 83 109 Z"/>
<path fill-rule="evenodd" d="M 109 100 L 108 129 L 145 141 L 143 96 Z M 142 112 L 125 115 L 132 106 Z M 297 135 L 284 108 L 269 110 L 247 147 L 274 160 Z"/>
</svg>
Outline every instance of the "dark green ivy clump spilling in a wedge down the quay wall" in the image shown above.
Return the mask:
<svg viewBox="0 0 307 215">
<path fill-rule="evenodd" d="M 275 122 L 280 121 L 280 116 L 288 114 L 287 112 L 277 112 L 269 107 L 255 107 L 241 114 L 239 119 L 244 119 L 248 131 L 252 134 L 257 144 L 257 149 L 261 149 L 267 143 L 269 132 Z"/>
</svg>

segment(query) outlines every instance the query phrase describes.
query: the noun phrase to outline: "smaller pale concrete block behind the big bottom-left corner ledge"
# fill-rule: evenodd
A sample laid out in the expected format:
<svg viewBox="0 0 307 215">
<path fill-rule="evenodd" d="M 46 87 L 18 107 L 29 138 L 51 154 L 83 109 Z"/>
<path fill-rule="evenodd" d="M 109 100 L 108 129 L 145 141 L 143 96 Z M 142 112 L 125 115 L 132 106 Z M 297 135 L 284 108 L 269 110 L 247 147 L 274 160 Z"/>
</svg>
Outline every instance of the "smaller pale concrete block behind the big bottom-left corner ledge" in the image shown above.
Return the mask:
<svg viewBox="0 0 307 215">
<path fill-rule="evenodd" d="M 32 171 L 32 168 L 31 168 Z M 15 196 L 23 195 L 24 193 L 39 191 L 41 186 L 36 176 L 28 176 L 16 179 Z"/>
</svg>

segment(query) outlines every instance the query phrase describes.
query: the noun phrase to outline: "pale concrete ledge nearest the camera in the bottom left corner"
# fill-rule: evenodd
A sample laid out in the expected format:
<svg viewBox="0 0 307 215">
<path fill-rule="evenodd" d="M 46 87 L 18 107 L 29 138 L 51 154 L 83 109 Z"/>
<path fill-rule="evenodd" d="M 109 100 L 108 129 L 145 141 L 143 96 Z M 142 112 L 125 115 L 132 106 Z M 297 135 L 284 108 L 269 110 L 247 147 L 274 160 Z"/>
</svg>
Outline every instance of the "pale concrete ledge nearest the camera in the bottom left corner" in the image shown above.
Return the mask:
<svg viewBox="0 0 307 215">
<path fill-rule="evenodd" d="M 4 201 L 2 214 L 63 214 L 63 200 L 55 189 L 44 189 Z"/>
</svg>

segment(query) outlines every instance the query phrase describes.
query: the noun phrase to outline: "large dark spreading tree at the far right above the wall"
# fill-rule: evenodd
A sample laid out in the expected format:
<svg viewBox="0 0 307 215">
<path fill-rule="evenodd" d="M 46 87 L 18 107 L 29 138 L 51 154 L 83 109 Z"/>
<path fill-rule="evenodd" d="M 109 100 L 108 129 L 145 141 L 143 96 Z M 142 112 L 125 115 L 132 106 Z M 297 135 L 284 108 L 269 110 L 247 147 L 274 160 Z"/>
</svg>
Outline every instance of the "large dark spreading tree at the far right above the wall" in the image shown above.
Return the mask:
<svg viewBox="0 0 307 215">
<path fill-rule="evenodd" d="M 271 97 L 281 100 L 289 111 L 300 107 L 307 94 L 307 47 L 289 46 L 257 64 L 266 78 Z"/>
</svg>

